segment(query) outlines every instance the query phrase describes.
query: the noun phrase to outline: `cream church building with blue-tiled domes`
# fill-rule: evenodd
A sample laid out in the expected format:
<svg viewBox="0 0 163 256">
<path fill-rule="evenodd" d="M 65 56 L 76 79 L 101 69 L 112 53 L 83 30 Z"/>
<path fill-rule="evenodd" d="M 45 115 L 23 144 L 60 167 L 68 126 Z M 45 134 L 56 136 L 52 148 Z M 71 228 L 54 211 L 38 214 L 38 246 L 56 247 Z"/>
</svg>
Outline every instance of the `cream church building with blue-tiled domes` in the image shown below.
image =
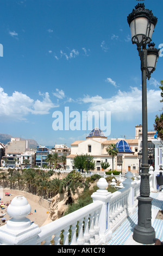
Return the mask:
<svg viewBox="0 0 163 256">
<path fill-rule="evenodd" d="M 154 138 L 155 131 L 148 132 L 148 148 L 154 150 L 152 139 Z M 73 159 L 77 155 L 88 154 L 93 156 L 96 163 L 95 170 L 102 170 L 101 162 L 109 162 L 112 169 L 112 157 L 109 156 L 106 148 L 110 144 L 116 144 L 118 147 L 118 155 L 114 157 L 114 169 L 122 170 L 123 173 L 131 171 L 139 173 L 139 158 L 138 153 L 142 149 L 142 125 L 135 126 L 134 139 L 107 139 L 104 133 L 99 129 L 93 129 L 84 141 L 75 141 L 71 144 L 71 154 L 67 156 L 67 166 L 73 168 Z M 153 157 L 154 159 L 154 157 Z M 154 160 L 151 159 L 149 164 L 153 164 Z"/>
</svg>

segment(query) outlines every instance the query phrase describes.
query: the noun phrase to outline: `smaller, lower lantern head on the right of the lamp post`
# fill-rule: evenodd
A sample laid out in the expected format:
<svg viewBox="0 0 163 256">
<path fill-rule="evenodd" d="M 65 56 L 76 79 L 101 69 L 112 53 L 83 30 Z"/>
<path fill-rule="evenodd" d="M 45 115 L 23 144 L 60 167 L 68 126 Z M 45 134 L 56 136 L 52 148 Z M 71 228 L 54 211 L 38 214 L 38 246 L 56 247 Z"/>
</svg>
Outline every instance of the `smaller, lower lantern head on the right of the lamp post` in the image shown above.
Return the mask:
<svg viewBox="0 0 163 256">
<path fill-rule="evenodd" d="M 148 68 L 148 80 L 151 77 L 151 74 L 155 70 L 156 63 L 158 62 L 159 58 L 159 51 L 160 49 L 157 49 L 154 47 L 155 44 L 152 42 L 151 44 L 148 44 L 148 49 L 147 49 L 147 68 Z"/>
</svg>

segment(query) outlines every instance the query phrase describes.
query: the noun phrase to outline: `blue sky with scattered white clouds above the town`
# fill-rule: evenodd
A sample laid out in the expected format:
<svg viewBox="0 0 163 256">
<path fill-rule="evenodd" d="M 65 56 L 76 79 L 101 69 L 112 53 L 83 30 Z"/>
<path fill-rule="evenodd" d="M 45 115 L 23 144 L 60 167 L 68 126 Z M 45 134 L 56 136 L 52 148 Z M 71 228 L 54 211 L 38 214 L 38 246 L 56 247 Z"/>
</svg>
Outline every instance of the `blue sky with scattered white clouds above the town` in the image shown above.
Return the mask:
<svg viewBox="0 0 163 256">
<path fill-rule="evenodd" d="M 137 3 L 1 0 L 0 133 L 42 145 L 83 140 L 88 129 L 52 127 L 53 113 L 65 118 L 68 107 L 80 114 L 81 127 L 83 111 L 111 112 L 111 133 L 105 135 L 134 138 L 142 123 L 141 70 L 127 16 Z M 145 6 L 158 17 L 152 40 L 163 48 L 163 2 L 145 0 Z M 162 63 L 160 57 L 147 81 L 149 130 L 161 109 Z"/>
</svg>

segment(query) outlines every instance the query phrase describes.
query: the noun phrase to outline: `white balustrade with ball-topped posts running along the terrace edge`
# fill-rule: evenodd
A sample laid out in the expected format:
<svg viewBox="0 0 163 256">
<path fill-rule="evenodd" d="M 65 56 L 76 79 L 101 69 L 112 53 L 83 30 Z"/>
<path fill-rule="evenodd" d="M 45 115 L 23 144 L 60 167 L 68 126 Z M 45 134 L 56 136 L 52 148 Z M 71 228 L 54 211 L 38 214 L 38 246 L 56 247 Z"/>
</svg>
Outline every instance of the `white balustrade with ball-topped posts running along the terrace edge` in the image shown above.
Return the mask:
<svg viewBox="0 0 163 256">
<path fill-rule="evenodd" d="M 0 227 L 1 245 L 102 245 L 112 232 L 135 210 L 140 180 L 126 174 L 123 188 L 110 193 L 105 178 L 97 182 L 93 203 L 51 223 L 38 227 L 26 216 L 30 205 L 24 197 L 16 197 L 8 206 L 12 219 Z M 113 181 L 115 182 L 115 181 Z M 78 230 L 78 231 L 77 231 Z"/>
</svg>

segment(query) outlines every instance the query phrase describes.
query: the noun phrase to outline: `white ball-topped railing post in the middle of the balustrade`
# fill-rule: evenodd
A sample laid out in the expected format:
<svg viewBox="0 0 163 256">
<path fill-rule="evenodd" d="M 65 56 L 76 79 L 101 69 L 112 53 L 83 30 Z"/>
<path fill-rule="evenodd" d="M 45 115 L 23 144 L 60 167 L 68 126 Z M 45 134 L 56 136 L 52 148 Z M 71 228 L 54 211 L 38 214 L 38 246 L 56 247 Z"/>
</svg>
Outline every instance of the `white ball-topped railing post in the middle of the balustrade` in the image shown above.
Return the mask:
<svg viewBox="0 0 163 256">
<path fill-rule="evenodd" d="M 111 239 L 112 231 L 109 227 L 109 211 L 110 211 L 110 199 L 111 193 L 106 190 L 108 187 L 108 182 L 105 178 L 99 179 L 97 182 L 99 190 L 92 194 L 93 202 L 100 201 L 103 202 L 101 211 L 99 212 L 99 237 L 102 238 L 103 242 L 106 243 Z"/>
</svg>

